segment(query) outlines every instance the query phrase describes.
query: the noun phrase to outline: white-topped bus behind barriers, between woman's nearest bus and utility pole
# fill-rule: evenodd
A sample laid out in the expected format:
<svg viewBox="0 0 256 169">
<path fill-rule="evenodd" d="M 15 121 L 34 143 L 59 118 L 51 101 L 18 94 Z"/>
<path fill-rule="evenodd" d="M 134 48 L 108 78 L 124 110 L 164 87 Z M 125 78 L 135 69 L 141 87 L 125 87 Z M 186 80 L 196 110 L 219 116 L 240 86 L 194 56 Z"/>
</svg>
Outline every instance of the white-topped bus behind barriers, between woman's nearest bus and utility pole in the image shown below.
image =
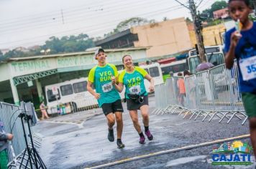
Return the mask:
<svg viewBox="0 0 256 169">
<path fill-rule="evenodd" d="M 186 69 L 188 69 L 188 63 L 186 59 L 177 60 L 170 62 L 168 64 L 161 64 L 160 68 L 163 73 L 163 80 L 170 77 L 170 72 L 173 72 L 173 76 L 177 76 L 178 72 L 182 72 Z"/>
</svg>

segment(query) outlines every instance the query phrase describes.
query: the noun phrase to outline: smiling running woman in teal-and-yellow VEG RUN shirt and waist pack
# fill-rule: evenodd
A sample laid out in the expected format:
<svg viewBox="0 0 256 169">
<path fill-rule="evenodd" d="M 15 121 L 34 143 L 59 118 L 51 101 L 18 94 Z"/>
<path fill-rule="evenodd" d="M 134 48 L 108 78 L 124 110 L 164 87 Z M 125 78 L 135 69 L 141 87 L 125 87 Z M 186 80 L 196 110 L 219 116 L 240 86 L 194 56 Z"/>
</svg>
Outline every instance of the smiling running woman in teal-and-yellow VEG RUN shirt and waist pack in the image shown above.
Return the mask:
<svg viewBox="0 0 256 169">
<path fill-rule="evenodd" d="M 153 135 L 149 130 L 150 117 L 148 115 L 148 94 L 145 89 L 144 79 L 150 81 L 150 92 L 154 91 L 154 79 L 141 67 L 134 67 L 132 57 L 124 55 L 122 58 L 124 63 L 124 71 L 119 74 L 119 84 L 114 82 L 114 87 L 119 92 L 122 92 L 125 86 L 125 98 L 127 99 L 127 109 L 132 118 L 133 125 L 140 135 L 140 144 L 145 143 L 145 136 L 141 130 L 140 122 L 138 120 L 137 110 L 142 114 L 142 121 L 145 127 L 145 134 L 148 140 L 153 140 Z"/>
</svg>

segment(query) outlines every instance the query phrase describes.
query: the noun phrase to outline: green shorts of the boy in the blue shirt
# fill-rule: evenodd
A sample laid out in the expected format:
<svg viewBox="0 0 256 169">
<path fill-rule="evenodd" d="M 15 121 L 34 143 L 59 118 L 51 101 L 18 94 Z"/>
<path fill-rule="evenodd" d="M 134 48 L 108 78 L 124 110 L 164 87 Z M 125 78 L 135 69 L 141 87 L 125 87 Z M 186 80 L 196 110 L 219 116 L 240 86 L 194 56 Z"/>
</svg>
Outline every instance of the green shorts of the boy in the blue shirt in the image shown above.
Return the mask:
<svg viewBox="0 0 256 169">
<path fill-rule="evenodd" d="M 248 117 L 256 117 L 256 95 L 250 92 L 242 92 L 242 102 Z"/>
</svg>

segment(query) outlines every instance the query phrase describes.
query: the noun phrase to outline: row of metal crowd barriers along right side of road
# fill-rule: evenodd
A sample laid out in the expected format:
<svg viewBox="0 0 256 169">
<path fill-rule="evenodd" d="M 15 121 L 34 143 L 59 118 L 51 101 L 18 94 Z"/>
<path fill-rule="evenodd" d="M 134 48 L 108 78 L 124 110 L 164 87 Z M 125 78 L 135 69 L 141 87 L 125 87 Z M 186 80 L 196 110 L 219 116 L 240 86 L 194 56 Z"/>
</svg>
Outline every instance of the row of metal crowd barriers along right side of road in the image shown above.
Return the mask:
<svg viewBox="0 0 256 169">
<path fill-rule="evenodd" d="M 179 79 L 183 79 L 186 95 L 180 95 Z M 226 69 L 224 64 L 188 77 L 171 77 L 155 87 L 155 114 L 178 113 L 189 119 L 219 118 L 227 123 L 233 117 L 247 120 L 239 92 L 238 67 Z"/>
</svg>

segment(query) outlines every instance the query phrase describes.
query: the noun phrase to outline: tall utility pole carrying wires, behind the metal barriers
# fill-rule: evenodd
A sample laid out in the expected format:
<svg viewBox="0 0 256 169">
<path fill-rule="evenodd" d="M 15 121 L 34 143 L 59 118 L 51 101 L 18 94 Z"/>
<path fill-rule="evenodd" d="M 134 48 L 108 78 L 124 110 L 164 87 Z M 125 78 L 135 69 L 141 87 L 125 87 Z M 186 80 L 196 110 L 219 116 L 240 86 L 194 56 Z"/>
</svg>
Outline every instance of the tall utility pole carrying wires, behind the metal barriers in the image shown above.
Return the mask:
<svg viewBox="0 0 256 169">
<path fill-rule="evenodd" d="M 201 21 L 196 14 L 196 5 L 193 0 L 189 0 L 189 9 L 191 11 L 192 19 L 193 19 L 193 26 L 196 33 L 196 42 L 198 47 L 198 54 L 201 62 L 206 62 L 206 54 L 204 50 L 204 40 L 202 35 L 201 29 Z"/>
</svg>

